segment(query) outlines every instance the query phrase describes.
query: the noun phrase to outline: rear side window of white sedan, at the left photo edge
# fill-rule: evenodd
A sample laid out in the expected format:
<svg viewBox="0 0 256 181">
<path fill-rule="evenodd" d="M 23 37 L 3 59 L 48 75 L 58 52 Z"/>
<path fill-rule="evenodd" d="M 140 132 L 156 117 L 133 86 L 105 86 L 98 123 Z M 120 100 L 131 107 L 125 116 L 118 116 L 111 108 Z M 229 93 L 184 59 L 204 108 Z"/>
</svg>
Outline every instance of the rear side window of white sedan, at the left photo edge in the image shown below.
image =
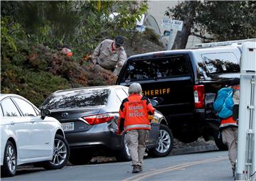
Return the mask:
<svg viewBox="0 0 256 181">
<path fill-rule="evenodd" d="M 21 116 L 18 112 L 17 107 L 15 106 L 14 102 L 11 99 L 4 99 L 1 102 L 1 106 L 4 112 L 4 116 Z"/>
</svg>

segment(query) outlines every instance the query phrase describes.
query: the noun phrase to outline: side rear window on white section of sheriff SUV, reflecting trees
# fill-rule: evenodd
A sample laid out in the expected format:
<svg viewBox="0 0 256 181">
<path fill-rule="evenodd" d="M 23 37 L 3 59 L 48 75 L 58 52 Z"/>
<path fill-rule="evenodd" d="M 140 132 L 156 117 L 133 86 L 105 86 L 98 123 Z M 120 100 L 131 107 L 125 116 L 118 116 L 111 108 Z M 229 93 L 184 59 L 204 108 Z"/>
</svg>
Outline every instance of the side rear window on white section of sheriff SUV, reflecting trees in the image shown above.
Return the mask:
<svg viewBox="0 0 256 181">
<path fill-rule="evenodd" d="M 207 53 L 202 58 L 210 74 L 240 72 L 239 60 L 233 53 Z"/>
</svg>

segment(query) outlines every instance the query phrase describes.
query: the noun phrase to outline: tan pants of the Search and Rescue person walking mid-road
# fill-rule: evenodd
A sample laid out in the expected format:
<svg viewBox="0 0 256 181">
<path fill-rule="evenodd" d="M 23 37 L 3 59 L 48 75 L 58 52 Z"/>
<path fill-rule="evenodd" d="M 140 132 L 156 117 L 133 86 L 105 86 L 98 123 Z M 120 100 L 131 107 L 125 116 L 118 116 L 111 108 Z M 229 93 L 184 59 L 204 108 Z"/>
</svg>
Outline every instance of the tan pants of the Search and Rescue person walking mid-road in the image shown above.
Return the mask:
<svg viewBox="0 0 256 181">
<path fill-rule="evenodd" d="M 132 157 L 132 165 L 143 165 L 143 157 L 146 150 L 145 143 L 148 138 L 149 130 L 137 129 L 127 132 L 126 141 Z"/>
</svg>

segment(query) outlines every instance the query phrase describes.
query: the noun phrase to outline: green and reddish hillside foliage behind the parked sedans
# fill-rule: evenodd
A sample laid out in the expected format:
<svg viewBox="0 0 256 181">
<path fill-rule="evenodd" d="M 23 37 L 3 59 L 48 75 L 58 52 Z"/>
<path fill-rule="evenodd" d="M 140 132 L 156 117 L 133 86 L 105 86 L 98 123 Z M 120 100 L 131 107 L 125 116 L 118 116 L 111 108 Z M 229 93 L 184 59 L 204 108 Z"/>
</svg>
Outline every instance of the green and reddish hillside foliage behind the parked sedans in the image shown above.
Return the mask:
<svg viewBox="0 0 256 181">
<path fill-rule="evenodd" d="M 1 1 L 1 92 L 39 106 L 58 89 L 114 84 L 112 72 L 82 57 L 106 38 L 129 39 L 146 10 L 146 1 Z"/>
</svg>

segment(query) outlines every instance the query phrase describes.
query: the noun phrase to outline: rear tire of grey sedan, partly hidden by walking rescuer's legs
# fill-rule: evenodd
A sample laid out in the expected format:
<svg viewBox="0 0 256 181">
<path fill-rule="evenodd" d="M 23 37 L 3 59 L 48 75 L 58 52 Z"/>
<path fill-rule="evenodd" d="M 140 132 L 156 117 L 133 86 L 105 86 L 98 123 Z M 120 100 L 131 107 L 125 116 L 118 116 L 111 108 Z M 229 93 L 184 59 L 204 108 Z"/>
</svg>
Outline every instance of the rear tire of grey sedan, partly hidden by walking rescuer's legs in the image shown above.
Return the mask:
<svg viewBox="0 0 256 181">
<path fill-rule="evenodd" d="M 122 135 L 121 141 L 122 141 L 122 149 L 118 150 L 116 154 L 117 161 L 119 162 L 127 162 L 132 160 L 132 157 L 129 153 L 129 149 L 126 143 L 125 139 L 126 134 Z"/>
</svg>

